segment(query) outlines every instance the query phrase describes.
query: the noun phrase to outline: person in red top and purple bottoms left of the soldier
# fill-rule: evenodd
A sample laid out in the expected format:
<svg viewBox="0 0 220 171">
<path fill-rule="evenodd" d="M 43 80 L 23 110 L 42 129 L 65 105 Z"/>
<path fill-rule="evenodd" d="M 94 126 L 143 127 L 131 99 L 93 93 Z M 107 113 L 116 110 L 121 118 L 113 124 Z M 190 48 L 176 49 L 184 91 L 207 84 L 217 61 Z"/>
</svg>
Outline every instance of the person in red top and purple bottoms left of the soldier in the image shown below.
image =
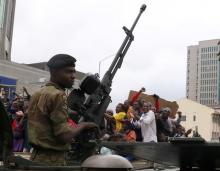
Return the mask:
<svg viewBox="0 0 220 171">
<path fill-rule="evenodd" d="M 23 152 L 24 147 L 24 113 L 19 110 L 16 112 L 16 118 L 13 121 L 13 151 Z"/>
</svg>

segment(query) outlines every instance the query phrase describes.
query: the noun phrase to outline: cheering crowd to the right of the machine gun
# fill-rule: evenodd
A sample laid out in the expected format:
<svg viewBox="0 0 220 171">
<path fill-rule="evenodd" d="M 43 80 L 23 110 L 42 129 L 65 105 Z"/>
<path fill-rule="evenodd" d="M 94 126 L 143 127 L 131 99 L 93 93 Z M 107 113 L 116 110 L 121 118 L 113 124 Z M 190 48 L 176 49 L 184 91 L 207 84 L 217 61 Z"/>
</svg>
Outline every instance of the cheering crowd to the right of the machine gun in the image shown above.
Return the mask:
<svg viewBox="0 0 220 171">
<path fill-rule="evenodd" d="M 154 94 L 155 103 L 140 99 L 142 88 L 130 101 L 116 106 L 116 113 L 107 110 L 103 137 L 118 137 L 121 141 L 166 142 L 169 137 L 188 137 L 192 129 L 185 130 L 180 124 L 182 113 L 171 118 L 169 107 L 160 108 L 159 96 Z"/>
</svg>

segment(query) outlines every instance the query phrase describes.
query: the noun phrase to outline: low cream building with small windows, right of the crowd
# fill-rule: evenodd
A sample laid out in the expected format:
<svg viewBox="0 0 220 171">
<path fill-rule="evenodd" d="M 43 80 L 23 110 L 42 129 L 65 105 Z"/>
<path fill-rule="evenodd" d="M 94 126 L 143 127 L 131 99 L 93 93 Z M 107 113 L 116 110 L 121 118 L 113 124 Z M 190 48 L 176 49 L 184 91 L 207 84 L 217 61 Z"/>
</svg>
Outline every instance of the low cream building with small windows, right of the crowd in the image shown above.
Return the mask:
<svg viewBox="0 0 220 171">
<path fill-rule="evenodd" d="M 182 112 L 182 122 L 186 130 L 196 128 L 206 141 L 219 141 L 220 113 L 205 105 L 186 98 L 177 100 L 179 111 Z"/>
</svg>

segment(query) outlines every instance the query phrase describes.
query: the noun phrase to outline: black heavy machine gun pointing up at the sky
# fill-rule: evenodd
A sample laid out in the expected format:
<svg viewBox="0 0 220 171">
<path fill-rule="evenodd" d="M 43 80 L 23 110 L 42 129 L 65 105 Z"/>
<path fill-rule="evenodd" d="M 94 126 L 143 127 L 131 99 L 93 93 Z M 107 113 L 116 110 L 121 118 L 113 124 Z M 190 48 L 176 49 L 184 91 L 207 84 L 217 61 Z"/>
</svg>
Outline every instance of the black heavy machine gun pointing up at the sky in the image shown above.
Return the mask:
<svg viewBox="0 0 220 171">
<path fill-rule="evenodd" d="M 125 26 L 123 27 L 126 37 L 102 80 L 99 80 L 97 74 L 88 75 L 81 81 L 80 88 L 74 89 L 68 96 L 68 106 L 71 110 L 78 113 L 78 116 L 80 116 L 79 122 L 94 122 L 99 126 L 99 128 L 101 128 L 104 113 L 111 102 L 110 92 L 112 90 L 111 86 L 113 78 L 118 69 L 121 68 L 123 59 L 134 40 L 133 30 L 145 9 L 146 5 L 143 4 L 130 29 Z M 88 95 L 87 98 L 85 94 Z M 91 155 L 88 154 L 90 153 L 90 150 L 86 142 L 97 139 L 97 135 L 98 134 L 94 132 L 87 132 L 76 138 L 75 145 L 73 145 L 75 150 L 73 151 L 76 151 L 75 153 L 78 157 L 74 158 L 74 160 L 83 160 Z M 91 151 L 93 151 L 93 147 L 91 147 Z"/>
</svg>

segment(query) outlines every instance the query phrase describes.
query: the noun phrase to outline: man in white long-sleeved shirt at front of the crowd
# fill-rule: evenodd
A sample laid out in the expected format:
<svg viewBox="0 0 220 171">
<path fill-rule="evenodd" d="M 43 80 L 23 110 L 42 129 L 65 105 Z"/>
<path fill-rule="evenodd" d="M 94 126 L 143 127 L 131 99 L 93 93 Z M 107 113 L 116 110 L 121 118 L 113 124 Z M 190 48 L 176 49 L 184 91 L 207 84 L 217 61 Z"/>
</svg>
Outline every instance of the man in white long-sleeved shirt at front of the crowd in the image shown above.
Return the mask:
<svg viewBox="0 0 220 171">
<path fill-rule="evenodd" d="M 135 125 L 141 127 L 143 142 L 157 142 L 157 129 L 155 114 L 151 110 L 152 104 L 145 102 L 143 104 L 143 114 Z"/>
</svg>

